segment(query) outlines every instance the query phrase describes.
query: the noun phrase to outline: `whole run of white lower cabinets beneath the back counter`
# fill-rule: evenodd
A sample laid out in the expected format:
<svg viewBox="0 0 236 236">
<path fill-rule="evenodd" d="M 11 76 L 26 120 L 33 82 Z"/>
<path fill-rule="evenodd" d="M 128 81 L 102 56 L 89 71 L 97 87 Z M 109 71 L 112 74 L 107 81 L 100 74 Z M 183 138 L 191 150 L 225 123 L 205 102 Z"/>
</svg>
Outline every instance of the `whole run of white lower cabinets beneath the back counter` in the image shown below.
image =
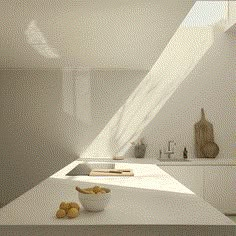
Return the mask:
<svg viewBox="0 0 236 236">
<path fill-rule="evenodd" d="M 236 214 L 236 166 L 159 166 L 224 214 Z"/>
</svg>

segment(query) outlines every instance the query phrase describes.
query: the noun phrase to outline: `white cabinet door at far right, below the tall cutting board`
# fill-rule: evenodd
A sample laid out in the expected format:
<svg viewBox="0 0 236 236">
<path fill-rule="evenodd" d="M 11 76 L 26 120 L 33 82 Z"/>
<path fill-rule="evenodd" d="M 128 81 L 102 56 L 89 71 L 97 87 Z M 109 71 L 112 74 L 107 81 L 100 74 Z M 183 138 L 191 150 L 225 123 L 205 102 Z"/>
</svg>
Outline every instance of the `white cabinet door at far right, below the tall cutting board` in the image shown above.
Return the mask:
<svg viewBox="0 0 236 236">
<path fill-rule="evenodd" d="M 236 166 L 205 166 L 204 199 L 224 214 L 236 214 Z"/>
</svg>

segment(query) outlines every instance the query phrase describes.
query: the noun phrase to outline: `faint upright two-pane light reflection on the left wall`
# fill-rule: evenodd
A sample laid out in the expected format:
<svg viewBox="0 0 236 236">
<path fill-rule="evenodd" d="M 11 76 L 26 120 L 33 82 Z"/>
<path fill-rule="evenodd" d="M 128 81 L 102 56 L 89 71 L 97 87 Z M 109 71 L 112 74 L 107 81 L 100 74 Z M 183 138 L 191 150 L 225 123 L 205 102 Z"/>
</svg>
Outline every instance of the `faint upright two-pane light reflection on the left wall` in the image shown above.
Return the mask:
<svg viewBox="0 0 236 236">
<path fill-rule="evenodd" d="M 87 125 L 92 123 L 90 71 L 63 70 L 63 110 Z"/>
</svg>

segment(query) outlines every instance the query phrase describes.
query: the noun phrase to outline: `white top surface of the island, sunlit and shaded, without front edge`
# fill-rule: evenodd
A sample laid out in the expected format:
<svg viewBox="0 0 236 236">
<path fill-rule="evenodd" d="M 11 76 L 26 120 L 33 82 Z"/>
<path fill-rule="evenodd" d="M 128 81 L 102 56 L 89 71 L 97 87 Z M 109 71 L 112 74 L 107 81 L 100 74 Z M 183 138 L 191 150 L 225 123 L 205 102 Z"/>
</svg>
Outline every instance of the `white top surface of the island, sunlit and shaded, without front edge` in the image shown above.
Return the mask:
<svg viewBox="0 0 236 236">
<path fill-rule="evenodd" d="M 234 225 L 156 165 L 116 164 L 133 169 L 134 177 L 66 176 L 79 163 L 72 162 L 0 209 L 0 225 Z M 94 184 L 112 190 L 104 211 L 82 208 L 75 219 L 55 217 L 60 202 L 79 202 L 75 186 Z"/>
</svg>

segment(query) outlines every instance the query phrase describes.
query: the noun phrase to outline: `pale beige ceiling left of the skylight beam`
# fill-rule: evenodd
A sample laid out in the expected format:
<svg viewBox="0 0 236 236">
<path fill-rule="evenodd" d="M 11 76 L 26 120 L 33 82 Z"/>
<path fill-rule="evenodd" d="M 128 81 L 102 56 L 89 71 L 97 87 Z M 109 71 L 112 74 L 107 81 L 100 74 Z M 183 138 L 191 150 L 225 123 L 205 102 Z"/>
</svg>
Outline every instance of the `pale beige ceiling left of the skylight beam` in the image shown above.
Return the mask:
<svg viewBox="0 0 236 236">
<path fill-rule="evenodd" d="M 0 67 L 150 69 L 192 5 L 183 0 L 2 0 Z M 49 56 L 34 45 L 37 36 L 44 45 L 36 46 Z"/>
</svg>

